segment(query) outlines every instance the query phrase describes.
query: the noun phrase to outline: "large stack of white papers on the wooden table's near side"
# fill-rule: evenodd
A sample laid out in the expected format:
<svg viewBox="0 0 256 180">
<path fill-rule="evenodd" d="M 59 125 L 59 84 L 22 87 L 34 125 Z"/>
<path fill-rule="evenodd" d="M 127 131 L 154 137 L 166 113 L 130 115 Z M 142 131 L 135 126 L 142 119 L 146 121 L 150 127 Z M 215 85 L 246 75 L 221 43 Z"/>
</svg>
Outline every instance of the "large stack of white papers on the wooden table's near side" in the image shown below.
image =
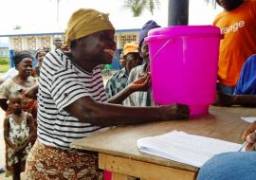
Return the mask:
<svg viewBox="0 0 256 180">
<path fill-rule="evenodd" d="M 173 131 L 137 140 L 138 150 L 200 168 L 214 154 L 237 152 L 241 144 Z"/>
</svg>

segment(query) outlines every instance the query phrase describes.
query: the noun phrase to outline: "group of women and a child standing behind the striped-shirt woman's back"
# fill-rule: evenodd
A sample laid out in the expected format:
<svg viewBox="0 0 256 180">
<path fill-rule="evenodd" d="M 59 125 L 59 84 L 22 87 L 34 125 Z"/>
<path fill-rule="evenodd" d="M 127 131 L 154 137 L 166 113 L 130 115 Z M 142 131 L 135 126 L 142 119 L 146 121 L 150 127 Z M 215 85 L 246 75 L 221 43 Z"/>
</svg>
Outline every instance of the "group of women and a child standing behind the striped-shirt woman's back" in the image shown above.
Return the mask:
<svg viewBox="0 0 256 180">
<path fill-rule="evenodd" d="M 57 45 L 56 45 L 57 48 Z M 15 52 L 11 68 L 0 85 L 0 107 L 6 112 L 4 139 L 6 142 L 6 176 L 20 179 L 25 171 L 27 155 L 37 138 L 37 99 L 26 95 L 28 89 L 38 84 L 40 68 L 49 48 Z"/>
</svg>

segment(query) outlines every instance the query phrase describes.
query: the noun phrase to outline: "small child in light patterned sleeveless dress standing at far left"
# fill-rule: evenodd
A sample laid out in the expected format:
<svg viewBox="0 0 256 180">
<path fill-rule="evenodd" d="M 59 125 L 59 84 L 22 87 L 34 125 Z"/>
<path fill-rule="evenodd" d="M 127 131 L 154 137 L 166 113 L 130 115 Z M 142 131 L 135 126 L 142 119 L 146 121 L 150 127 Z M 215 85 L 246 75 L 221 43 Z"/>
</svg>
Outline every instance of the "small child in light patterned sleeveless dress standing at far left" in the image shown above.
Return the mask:
<svg viewBox="0 0 256 180">
<path fill-rule="evenodd" d="M 30 139 L 34 135 L 34 122 L 31 114 L 22 110 L 23 97 L 17 92 L 9 96 L 12 114 L 5 118 L 4 137 L 6 142 L 6 176 L 20 179 L 25 171 L 27 154 L 31 149 Z"/>
</svg>

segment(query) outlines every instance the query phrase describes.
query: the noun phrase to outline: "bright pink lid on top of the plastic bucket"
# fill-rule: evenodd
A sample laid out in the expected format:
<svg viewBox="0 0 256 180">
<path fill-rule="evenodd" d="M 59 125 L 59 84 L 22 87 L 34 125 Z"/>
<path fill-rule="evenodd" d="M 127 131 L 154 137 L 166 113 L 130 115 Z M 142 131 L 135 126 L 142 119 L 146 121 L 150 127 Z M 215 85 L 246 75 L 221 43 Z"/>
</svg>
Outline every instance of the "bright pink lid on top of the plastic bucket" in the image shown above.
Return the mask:
<svg viewBox="0 0 256 180">
<path fill-rule="evenodd" d="M 152 38 L 168 38 L 168 37 L 218 37 L 223 38 L 219 27 L 214 26 L 173 26 L 173 27 L 159 27 L 149 31 L 148 37 L 145 39 L 149 41 Z"/>
</svg>

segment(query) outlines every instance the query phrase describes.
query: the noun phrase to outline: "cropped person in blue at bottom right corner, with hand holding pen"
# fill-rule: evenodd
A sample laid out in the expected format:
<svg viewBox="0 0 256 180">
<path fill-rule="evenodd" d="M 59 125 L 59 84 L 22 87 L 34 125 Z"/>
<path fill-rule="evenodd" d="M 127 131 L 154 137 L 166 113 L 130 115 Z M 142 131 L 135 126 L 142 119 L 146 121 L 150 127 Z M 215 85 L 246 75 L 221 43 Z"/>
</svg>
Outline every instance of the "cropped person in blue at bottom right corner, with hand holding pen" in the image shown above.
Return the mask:
<svg viewBox="0 0 256 180">
<path fill-rule="evenodd" d="M 246 151 L 214 155 L 200 169 L 197 180 L 253 180 L 256 178 L 256 121 L 242 136 L 247 141 Z"/>
</svg>

